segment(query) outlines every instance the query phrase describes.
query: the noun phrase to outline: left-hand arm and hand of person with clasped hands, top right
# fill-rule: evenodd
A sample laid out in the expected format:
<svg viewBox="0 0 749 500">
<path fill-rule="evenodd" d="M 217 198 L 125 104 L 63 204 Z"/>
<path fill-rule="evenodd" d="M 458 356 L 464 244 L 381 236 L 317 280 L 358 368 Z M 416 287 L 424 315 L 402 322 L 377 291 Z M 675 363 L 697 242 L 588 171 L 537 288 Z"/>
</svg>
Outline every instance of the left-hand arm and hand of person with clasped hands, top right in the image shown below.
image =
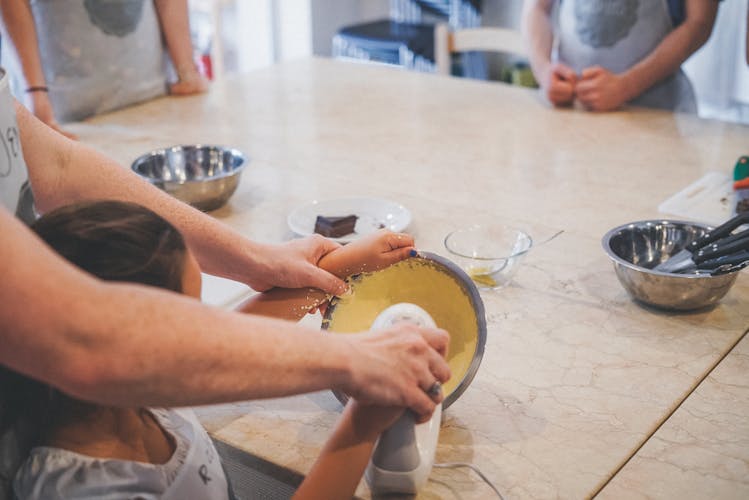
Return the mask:
<svg viewBox="0 0 749 500">
<path fill-rule="evenodd" d="M 544 95 L 555 106 L 572 104 L 575 98 L 575 71 L 561 63 L 551 62 L 554 30 L 551 8 L 554 0 L 526 0 L 523 8 L 523 35 L 533 76 Z"/>
</svg>

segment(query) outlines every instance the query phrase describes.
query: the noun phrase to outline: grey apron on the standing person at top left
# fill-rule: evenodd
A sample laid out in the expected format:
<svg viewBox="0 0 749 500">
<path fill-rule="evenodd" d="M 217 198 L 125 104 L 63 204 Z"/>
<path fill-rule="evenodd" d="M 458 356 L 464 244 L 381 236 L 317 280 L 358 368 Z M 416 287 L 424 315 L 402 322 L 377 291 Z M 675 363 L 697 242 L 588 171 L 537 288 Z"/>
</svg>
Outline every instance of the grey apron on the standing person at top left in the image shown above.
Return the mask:
<svg viewBox="0 0 749 500">
<path fill-rule="evenodd" d="M 32 0 L 39 55 L 60 122 L 166 93 L 152 0 Z"/>
</svg>

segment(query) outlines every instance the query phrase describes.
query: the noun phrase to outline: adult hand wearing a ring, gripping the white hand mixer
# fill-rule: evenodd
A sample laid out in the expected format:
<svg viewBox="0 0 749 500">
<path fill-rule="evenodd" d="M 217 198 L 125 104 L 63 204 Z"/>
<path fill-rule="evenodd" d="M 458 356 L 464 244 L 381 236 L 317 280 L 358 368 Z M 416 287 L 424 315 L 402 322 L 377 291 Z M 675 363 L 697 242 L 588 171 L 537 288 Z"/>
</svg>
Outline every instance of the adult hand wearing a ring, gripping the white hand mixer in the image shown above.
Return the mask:
<svg viewBox="0 0 749 500">
<path fill-rule="evenodd" d="M 398 323 L 350 336 L 352 379 L 336 389 L 362 404 L 408 407 L 426 422 L 443 395 L 427 391 L 450 378 L 445 361 L 449 335 L 439 328 Z"/>
</svg>

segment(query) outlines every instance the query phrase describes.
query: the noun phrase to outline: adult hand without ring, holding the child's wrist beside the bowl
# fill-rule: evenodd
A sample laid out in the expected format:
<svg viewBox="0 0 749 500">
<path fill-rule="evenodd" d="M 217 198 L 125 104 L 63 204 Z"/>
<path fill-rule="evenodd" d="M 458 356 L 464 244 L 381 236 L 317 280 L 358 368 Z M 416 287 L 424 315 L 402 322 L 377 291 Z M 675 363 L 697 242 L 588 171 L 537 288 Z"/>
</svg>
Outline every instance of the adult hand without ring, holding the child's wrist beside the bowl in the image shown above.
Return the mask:
<svg viewBox="0 0 749 500">
<path fill-rule="evenodd" d="M 264 292 L 274 286 L 282 288 L 319 288 L 325 293 L 341 295 L 346 284 L 318 267 L 323 256 L 341 245 L 318 234 L 280 245 L 260 245 L 253 258 L 258 265 L 246 283 Z"/>
</svg>

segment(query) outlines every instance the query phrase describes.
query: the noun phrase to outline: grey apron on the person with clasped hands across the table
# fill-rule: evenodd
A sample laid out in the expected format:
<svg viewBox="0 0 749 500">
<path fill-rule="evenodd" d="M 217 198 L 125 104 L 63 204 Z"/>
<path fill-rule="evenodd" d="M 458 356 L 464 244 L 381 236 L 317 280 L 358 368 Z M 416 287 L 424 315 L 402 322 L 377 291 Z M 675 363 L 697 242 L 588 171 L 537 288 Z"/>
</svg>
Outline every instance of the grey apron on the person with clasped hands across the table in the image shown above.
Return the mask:
<svg viewBox="0 0 749 500">
<path fill-rule="evenodd" d="M 666 0 L 565 0 L 559 8 L 559 62 L 578 74 L 591 66 L 622 73 L 673 30 Z M 678 70 L 629 102 L 696 113 L 692 85 Z"/>
</svg>

